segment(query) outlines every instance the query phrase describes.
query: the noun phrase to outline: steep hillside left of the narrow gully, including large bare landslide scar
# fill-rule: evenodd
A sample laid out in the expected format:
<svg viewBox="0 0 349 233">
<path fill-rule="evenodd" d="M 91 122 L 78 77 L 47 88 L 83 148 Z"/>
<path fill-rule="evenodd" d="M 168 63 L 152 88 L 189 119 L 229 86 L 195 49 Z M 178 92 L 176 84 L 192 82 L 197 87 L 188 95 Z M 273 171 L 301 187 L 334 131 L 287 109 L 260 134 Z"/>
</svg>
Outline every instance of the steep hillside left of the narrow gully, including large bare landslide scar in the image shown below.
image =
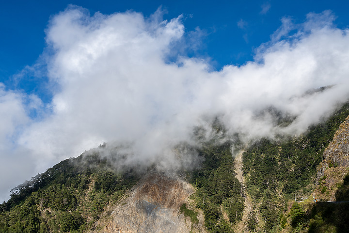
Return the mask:
<svg viewBox="0 0 349 233">
<path fill-rule="evenodd" d="M 201 168 L 169 177 L 156 165 L 115 170 L 101 145 L 14 188 L 0 232 L 230 232 L 243 210 L 231 146 L 205 142 L 191 149 Z"/>
</svg>

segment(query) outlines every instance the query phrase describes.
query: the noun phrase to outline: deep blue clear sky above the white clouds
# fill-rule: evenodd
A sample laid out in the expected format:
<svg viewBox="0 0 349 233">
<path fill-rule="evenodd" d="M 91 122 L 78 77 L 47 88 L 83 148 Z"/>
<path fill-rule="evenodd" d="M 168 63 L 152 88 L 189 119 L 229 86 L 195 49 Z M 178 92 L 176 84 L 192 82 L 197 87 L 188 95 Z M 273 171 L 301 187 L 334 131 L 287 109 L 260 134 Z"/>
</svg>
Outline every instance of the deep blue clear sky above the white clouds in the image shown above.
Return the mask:
<svg viewBox="0 0 349 233">
<path fill-rule="evenodd" d="M 187 32 L 199 27 L 203 33 L 200 47 L 196 51 L 187 51 L 187 54 L 209 57 L 211 65 L 217 69 L 252 61 L 254 50 L 270 40 L 270 35 L 281 26 L 282 17 L 300 23 L 310 12 L 331 10 L 337 17 L 335 23 L 339 28 L 349 24 L 349 3 L 345 0 L 4 1 L 0 8 L 0 82 L 11 89 L 20 88 L 50 98 L 38 88 L 41 81 L 27 77 L 14 82 L 12 77 L 40 56 L 46 46 L 45 29 L 49 18 L 63 11 L 68 4 L 82 6 L 91 15 L 133 10 L 148 17 L 159 6 L 167 12 L 165 19 L 183 14 Z"/>
</svg>

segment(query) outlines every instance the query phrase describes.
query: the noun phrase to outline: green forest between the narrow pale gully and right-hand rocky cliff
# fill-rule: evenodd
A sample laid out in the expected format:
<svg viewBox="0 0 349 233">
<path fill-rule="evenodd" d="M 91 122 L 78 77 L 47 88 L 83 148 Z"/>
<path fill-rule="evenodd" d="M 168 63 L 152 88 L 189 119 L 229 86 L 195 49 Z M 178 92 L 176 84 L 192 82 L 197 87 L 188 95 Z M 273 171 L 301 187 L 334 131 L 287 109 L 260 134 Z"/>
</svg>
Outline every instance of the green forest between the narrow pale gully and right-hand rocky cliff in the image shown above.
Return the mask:
<svg viewBox="0 0 349 233">
<path fill-rule="evenodd" d="M 306 207 L 294 203 L 286 217 L 284 216 L 287 212 L 285 206 L 289 200 L 296 198 L 297 201 L 301 201 L 302 197 L 311 195 L 307 187 L 314 182 L 323 151 L 348 115 L 349 104 L 347 103 L 327 121 L 310 127 L 307 133 L 300 137 L 280 138 L 275 141 L 263 138 L 245 150 L 243 171 L 247 191 L 253 197 L 260 216 L 264 220 L 263 227 L 259 230 L 280 232 L 286 228 L 286 219 L 294 232 L 305 231 L 309 221 L 312 222 L 311 229 L 318 229 L 315 226 L 319 223 L 312 217 L 323 219 L 322 214 L 306 216 L 304 210 Z M 338 198 L 342 197 L 343 200 L 348 198 L 348 183 L 349 178 L 337 192 Z M 326 191 L 326 186 L 323 186 L 321 192 Z M 321 211 L 316 210 L 317 213 Z M 253 217 L 248 223 L 250 230 L 255 230 Z"/>
</svg>

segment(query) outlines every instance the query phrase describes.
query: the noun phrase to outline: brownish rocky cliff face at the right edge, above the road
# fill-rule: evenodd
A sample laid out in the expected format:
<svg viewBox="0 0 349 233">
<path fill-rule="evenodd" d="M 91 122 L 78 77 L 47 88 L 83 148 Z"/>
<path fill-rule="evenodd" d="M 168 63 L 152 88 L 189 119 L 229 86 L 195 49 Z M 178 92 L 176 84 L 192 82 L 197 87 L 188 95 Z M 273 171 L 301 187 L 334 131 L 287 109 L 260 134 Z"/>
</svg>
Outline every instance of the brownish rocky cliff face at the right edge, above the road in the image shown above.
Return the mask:
<svg viewBox="0 0 349 233">
<path fill-rule="evenodd" d="M 336 184 L 341 182 L 349 171 L 349 116 L 324 150 L 323 158 L 317 171 L 317 193 L 321 200 L 333 201 Z"/>
</svg>

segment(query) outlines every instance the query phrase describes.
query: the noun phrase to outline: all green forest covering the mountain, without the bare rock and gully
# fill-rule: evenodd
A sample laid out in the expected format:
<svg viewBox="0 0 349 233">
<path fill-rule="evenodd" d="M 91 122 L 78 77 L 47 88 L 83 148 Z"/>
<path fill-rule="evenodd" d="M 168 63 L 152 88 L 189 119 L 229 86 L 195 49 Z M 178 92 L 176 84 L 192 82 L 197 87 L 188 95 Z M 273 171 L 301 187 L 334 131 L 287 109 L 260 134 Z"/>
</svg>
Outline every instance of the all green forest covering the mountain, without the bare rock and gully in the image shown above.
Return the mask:
<svg viewBox="0 0 349 233">
<path fill-rule="evenodd" d="M 311 195 L 322 153 L 348 115 L 346 104 L 300 137 L 263 138 L 245 149 L 243 171 L 247 192 L 254 201 L 254 209 L 244 222 L 248 231 L 342 233 L 349 229 L 348 203 L 314 204 L 302 199 Z M 289 125 L 292 120 L 280 119 L 278 124 Z M 188 172 L 190 183 L 196 187 L 191 198 L 195 208 L 203 211 L 209 233 L 233 233 L 245 208 L 242 185 L 234 171 L 233 141 L 224 140 L 225 129 L 219 120 L 212 127 L 216 135 L 205 142 L 203 129 L 195 131 L 202 147 L 190 150 L 196 150 L 203 162 Z M 234 139 L 234 143 L 237 146 L 240 142 Z M 0 205 L 0 233 L 94 230 L 105 207 L 121 200 L 139 178 L 131 169 L 115 171 L 113 158 L 101 158 L 93 151 L 97 150 L 66 159 L 14 188 L 11 199 Z M 336 199 L 349 201 L 349 175 L 337 186 Z M 322 186 L 321 192 L 328 192 L 327 187 Z M 198 213 L 186 204 L 179 212 L 190 217 L 192 225 L 199 222 Z"/>
</svg>

